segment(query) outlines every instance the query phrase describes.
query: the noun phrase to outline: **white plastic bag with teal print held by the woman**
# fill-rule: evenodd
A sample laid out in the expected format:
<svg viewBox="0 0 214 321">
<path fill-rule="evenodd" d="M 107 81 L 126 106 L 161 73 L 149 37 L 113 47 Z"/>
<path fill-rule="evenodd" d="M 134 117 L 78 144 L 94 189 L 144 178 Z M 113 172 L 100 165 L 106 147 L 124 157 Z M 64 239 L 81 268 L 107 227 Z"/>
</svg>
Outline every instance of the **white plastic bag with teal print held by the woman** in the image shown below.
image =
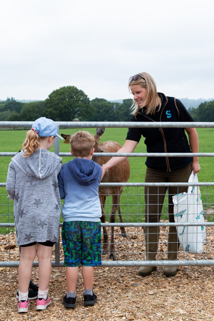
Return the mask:
<svg viewBox="0 0 214 321">
<path fill-rule="evenodd" d="M 188 186 L 188 192 L 174 195 L 174 219 L 175 222 L 204 222 L 203 206 L 201 201 L 201 193 L 198 183 L 197 174 L 193 171 L 188 180 L 193 186 Z M 206 231 L 204 226 L 176 226 L 178 239 L 181 247 L 186 252 L 201 253 L 203 251 L 203 243 L 206 239 Z"/>
</svg>

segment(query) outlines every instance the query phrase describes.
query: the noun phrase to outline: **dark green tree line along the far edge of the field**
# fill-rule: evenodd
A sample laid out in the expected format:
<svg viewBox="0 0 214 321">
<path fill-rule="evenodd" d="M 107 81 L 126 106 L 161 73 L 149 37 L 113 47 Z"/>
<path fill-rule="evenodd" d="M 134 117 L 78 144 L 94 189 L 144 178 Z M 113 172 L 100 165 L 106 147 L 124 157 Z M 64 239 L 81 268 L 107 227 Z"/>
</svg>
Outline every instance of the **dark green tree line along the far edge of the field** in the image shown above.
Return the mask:
<svg viewBox="0 0 214 321">
<path fill-rule="evenodd" d="M 132 99 L 122 103 L 103 98 L 89 100 L 84 91 L 65 86 L 52 91 L 46 100 L 23 103 L 14 98 L 0 101 L 0 121 L 34 121 L 39 117 L 55 121 L 130 121 Z M 214 122 L 214 100 L 188 108 L 195 121 Z"/>
</svg>

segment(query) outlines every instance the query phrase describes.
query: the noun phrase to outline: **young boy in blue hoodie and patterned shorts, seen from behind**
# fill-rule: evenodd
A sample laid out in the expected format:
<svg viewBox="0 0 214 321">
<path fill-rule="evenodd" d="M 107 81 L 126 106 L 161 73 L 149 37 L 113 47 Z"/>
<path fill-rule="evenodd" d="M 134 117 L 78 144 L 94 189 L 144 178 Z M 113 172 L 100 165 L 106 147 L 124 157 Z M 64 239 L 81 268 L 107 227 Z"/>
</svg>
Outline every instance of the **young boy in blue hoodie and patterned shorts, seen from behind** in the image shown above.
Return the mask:
<svg viewBox="0 0 214 321">
<path fill-rule="evenodd" d="M 92 160 L 94 137 L 79 131 L 70 137 L 75 157 L 62 166 L 58 175 L 59 192 L 64 199 L 62 241 L 66 266 L 66 308 L 75 308 L 78 266 L 82 265 L 84 306 L 97 302 L 93 293 L 94 266 L 101 265 L 101 207 L 98 187 L 101 166 Z"/>
</svg>

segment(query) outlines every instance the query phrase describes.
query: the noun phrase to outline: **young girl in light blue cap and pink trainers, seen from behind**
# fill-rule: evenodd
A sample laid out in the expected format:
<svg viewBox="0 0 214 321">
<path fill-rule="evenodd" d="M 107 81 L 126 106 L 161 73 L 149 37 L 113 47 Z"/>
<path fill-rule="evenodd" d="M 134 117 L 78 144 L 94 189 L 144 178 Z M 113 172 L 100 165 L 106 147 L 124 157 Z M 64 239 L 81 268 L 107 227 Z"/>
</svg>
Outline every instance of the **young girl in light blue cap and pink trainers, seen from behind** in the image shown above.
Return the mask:
<svg viewBox="0 0 214 321">
<path fill-rule="evenodd" d="M 37 119 L 27 132 L 22 151 L 9 164 L 6 189 L 14 200 L 16 242 L 21 247 L 18 312 L 28 312 L 28 287 L 33 261 L 39 261 L 37 310 L 51 304 L 47 295 L 53 245 L 59 238 L 60 195 L 57 175 L 62 160 L 48 150 L 57 134 L 56 123 Z M 62 138 L 61 138 L 62 139 Z"/>
</svg>

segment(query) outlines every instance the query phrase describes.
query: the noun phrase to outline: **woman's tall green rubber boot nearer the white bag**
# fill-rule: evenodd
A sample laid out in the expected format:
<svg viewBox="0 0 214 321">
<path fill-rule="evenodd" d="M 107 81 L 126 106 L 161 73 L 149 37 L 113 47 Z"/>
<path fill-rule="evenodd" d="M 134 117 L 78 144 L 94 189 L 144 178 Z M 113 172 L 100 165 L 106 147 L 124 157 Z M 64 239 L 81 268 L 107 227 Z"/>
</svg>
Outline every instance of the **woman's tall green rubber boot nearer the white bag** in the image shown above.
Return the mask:
<svg viewBox="0 0 214 321">
<path fill-rule="evenodd" d="M 177 260 L 179 246 L 176 226 L 169 226 L 167 260 Z M 177 266 L 164 266 L 164 275 L 174 276 L 176 273 Z"/>
</svg>

